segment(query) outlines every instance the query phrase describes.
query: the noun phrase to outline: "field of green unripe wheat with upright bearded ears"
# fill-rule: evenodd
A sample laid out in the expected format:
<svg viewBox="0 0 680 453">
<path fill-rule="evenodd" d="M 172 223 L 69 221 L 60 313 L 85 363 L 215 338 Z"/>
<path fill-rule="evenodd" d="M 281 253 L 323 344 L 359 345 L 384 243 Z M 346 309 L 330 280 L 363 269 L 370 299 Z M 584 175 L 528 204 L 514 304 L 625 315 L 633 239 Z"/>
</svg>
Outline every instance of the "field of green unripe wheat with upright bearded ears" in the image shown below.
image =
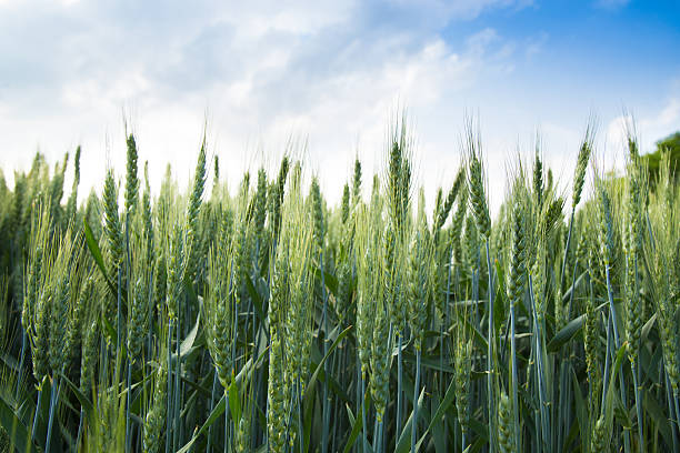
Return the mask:
<svg viewBox="0 0 680 453">
<path fill-rule="evenodd" d="M 186 190 L 132 134 L 82 203 L 80 148 L 1 177 L 0 451 L 680 452 L 670 153 L 629 127 L 609 172 L 591 123 L 492 214 L 472 121 L 429 209 L 387 137 L 332 204 L 292 148 L 230 191 L 206 140 Z"/>
</svg>

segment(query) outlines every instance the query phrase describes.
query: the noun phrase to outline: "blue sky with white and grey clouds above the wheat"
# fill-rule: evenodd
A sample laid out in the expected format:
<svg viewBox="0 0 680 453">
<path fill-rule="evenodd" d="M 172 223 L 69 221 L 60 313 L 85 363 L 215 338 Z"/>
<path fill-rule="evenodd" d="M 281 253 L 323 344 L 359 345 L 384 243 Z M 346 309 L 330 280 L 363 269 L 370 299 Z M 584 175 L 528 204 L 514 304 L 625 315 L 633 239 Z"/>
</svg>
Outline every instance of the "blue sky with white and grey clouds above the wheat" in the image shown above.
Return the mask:
<svg viewBox="0 0 680 453">
<path fill-rule="evenodd" d="M 0 0 L 0 168 L 81 144 L 82 200 L 122 179 L 127 124 L 151 185 L 167 163 L 186 185 L 207 131 L 232 188 L 288 149 L 334 204 L 356 157 L 368 193 L 403 113 L 428 194 L 470 118 L 492 207 L 537 142 L 568 193 L 589 119 L 607 168 L 626 112 L 642 151 L 680 129 L 679 23 L 677 1 Z"/>
</svg>

